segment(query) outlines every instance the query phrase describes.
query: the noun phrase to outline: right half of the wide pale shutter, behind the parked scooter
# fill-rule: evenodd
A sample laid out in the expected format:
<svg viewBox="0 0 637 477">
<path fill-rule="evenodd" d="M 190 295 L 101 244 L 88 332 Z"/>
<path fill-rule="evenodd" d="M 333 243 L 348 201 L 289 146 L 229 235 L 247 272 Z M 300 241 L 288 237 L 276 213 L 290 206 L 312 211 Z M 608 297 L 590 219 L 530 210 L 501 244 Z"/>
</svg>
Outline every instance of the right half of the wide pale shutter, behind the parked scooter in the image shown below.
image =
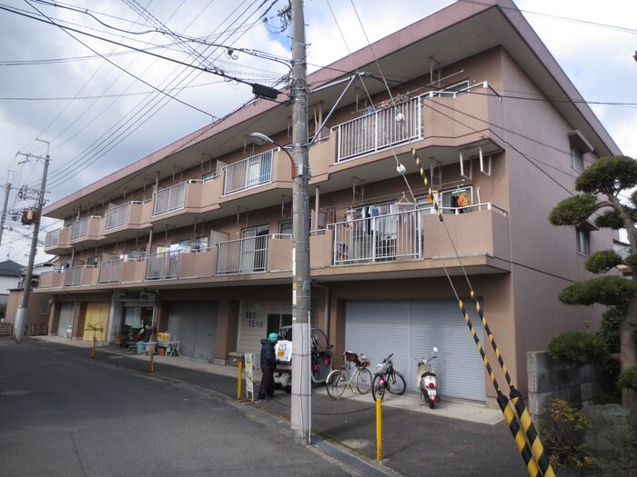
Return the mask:
<svg viewBox="0 0 637 477">
<path fill-rule="evenodd" d="M 465 303 L 471 303 L 470 301 Z M 471 324 L 484 346 L 484 328 L 475 309 L 469 312 Z M 414 358 L 429 357 L 434 346 L 438 357 L 434 368 L 438 375 L 441 396 L 485 400 L 485 371 L 480 352 L 471 336 L 458 303 L 453 300 L 427 300 L 412 302 L 411 353 Z M 416 390 L 414 374 L 411 386 Z"/>
</svg>

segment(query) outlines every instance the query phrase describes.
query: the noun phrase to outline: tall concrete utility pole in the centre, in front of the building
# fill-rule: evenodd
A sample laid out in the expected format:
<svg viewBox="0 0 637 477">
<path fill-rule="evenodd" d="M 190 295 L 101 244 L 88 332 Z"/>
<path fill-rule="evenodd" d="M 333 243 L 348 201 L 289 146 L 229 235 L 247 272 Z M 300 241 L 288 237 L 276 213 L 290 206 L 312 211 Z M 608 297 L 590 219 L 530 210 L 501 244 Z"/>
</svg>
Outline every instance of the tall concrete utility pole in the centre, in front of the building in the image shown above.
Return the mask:
<svg viewBox="0 0 637 477">
<path fill-rule="evenodd" d="M 311 362 L 309 320 L 308 214 L 308 84 L 306 81 L 305 21 L 302 0 L 291 1 L 292 16 L 292 157 L 296 167 L 292 184 L 292 440 L 309 444 L 311 438 Z"/>
</svg>

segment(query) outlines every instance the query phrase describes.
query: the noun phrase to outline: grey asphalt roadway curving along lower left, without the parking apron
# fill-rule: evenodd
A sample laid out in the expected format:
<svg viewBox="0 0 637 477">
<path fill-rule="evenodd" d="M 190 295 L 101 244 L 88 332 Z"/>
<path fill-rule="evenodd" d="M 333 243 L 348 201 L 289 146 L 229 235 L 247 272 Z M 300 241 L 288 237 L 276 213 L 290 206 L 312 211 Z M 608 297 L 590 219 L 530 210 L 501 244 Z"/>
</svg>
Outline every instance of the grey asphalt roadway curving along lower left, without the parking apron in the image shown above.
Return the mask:
<svg viewBox="0 0 637 477">
<path fill-rule="evenodd" d="M 356 474 L 196 386 L 0 340 L 0 475 Z"/>
</svg>

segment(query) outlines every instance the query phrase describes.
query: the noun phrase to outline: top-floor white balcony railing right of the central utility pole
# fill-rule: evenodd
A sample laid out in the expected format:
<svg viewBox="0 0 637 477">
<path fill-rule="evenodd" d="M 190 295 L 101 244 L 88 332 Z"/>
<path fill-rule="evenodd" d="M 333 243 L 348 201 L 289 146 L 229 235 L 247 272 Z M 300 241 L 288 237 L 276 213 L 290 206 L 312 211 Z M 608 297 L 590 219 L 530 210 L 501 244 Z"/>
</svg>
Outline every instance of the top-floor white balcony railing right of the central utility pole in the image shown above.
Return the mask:
<svg viewBox="0 0 637 477">
<path fill-rule="evenodd" d="M 334 126 L 339 138 L 337 162 L 420 139 L 421 107 L 417 97 L 388 108 L 372 109 L 369 114 Z"/>
</svg>

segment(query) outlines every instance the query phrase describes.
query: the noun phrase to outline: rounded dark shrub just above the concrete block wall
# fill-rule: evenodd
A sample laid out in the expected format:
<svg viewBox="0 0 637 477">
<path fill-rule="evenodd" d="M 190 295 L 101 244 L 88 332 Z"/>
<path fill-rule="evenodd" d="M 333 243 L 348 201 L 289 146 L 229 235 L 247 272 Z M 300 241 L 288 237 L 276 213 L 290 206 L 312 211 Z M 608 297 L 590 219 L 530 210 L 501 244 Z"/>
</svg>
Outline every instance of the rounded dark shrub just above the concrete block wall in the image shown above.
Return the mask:
<svg viewBox="0 0 637 477">
<path fill-rule="evenodd" d="M 600 335 L 577 331 L 556 334 L 546 351 L 551 358 L 571 364 L 596 363 L 607 353 Z"/>
</svg>

